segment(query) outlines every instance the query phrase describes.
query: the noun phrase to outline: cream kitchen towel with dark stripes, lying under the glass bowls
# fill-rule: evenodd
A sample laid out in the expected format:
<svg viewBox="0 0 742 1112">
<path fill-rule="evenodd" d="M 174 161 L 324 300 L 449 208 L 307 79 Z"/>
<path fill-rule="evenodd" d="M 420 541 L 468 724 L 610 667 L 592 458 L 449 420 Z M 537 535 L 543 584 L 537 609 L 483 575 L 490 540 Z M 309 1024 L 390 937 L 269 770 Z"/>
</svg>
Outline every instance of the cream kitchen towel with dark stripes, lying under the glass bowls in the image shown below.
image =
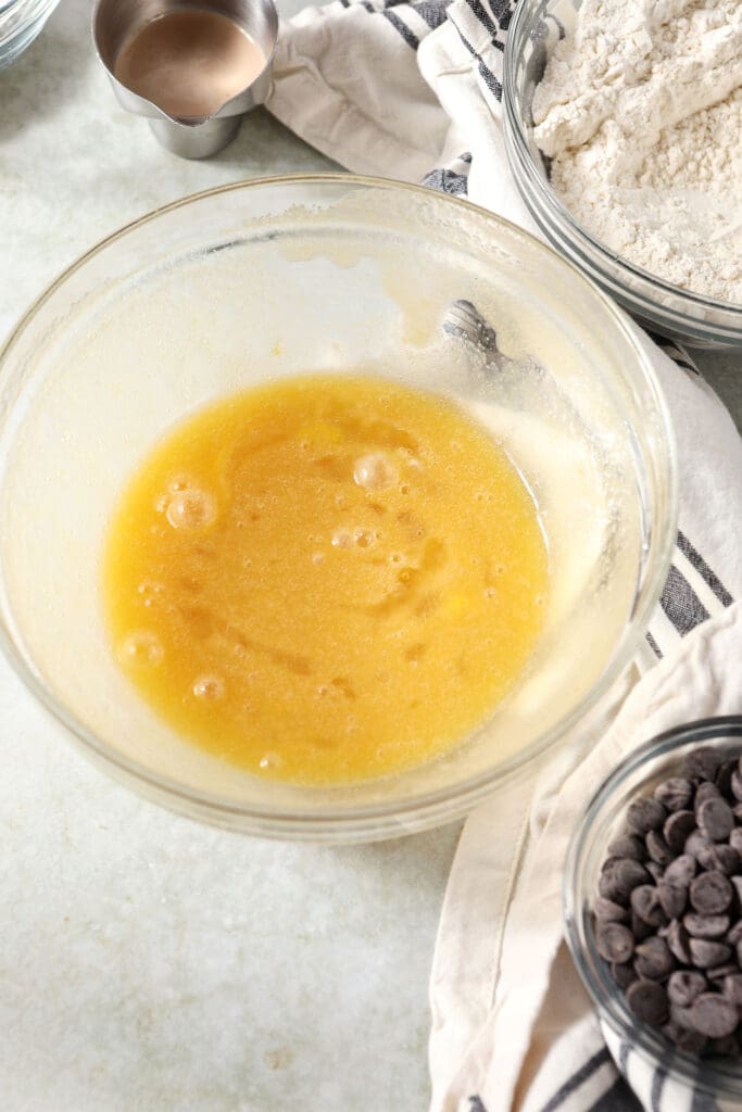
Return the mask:
<svg viewBox="0 0 742 1112">
<path fill-rule="evenodd" d="M 305 9 L 281 26 L 267 107 L 349 170 L 466 197 L 537 235 L 501 128 L 514 8 L 334 0 Z M 565 838 L 596 780 L 650 731 L 742 711 L 730 675 L 742 648 L 742 441 L 686 353 L 636 331 L 680 449 L 672 568 L 637 667 L 593 724 L 600 744 L 588 754 L 566 747 L 535 784 L 501 794 L 464 826 L 431 977 L 432 1112 L 714 1109 L 631 1048 L 606 1045 L 561 941 Z"/>
</svg>

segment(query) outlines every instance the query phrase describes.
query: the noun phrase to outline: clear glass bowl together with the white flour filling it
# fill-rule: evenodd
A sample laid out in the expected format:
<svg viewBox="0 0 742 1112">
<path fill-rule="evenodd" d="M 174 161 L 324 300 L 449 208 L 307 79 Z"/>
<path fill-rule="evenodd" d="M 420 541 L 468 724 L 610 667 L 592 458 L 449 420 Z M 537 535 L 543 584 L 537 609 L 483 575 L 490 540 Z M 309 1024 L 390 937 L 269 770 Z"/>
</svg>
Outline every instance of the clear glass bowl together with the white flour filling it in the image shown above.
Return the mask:
<svg viewBox="0 0 742 1112">
<path fill-rule="evenodd" d="M 742 347 L 739 0 L 524 0 L 504 103 L 547 239 L 647 328 Z"/>
</svg>

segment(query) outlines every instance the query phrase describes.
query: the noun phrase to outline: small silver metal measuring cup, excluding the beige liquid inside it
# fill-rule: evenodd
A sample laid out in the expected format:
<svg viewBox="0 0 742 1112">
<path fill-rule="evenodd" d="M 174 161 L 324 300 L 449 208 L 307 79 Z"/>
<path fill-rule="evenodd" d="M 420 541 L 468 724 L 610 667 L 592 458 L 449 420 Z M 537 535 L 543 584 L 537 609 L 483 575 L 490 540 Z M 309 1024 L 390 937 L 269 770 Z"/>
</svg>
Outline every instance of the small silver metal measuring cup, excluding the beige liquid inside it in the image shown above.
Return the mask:
<svg viewBox="0 0 742 1112">
<path fill-rule="evenodd" d="M 116 60 L 145 23 L 170 11 L 192 8 L 226 16 L 247 31 L 266 57 L 261 72 L 241 92 L 211 116 L 179 120 L 122 85 Z M 146 116 L 158 141 L 181 158 L 209 158 L 235 138 L 245 112 L 261 105 L 270 89 L 270 68 L 278 38 L 278 13 L 273 0 L 96 0 L 92 41 L 117 100 L 135 116 Z"/>
</svg>

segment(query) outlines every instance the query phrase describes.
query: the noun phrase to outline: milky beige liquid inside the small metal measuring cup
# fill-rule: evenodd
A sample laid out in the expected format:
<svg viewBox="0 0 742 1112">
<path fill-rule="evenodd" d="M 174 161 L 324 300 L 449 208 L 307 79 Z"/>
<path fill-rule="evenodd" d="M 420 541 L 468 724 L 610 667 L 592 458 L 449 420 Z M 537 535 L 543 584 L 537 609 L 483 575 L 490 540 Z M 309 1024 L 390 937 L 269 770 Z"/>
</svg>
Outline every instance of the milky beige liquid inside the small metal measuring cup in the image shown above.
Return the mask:
<svg viewBox="0 0 742 1112">
<path fill-rule="evenodd" d="M 216 11 L 158 16 L 125 42 L 116 78 L 174 119 L 212 116 L 265 69 L 257 42 Z"/>
</svg>

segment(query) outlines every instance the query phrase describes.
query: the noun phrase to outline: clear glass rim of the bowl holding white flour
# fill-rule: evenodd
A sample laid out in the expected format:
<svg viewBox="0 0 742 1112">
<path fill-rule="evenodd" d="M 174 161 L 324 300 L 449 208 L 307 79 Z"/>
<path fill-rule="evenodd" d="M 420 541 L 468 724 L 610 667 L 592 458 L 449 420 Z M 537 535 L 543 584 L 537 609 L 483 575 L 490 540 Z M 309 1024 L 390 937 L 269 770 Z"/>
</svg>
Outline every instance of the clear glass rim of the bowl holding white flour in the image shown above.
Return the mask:
<svg viewBox="0 0 742 1112">
<path fill-rule="evenodd" d="M 520 47 L 521 41 L 525 40 L 527 33 L 527 21 L 533 14 L 534 7 L 541 2 L 542 0 L 521 0 L 521 3 L 516 6 L 515 13 L 508 29 L 507 41 L 505 42 L 503 62 L 503 106 L 505 109 L 505 121 L 507 125 L 506 131 L 508 132 L 511 141 L 514 145 L 515 153 L 525 170 L 528 187 L 535 190 L 540 201 L 546 208 L 548 216 L 552 220 L 554 220 L 562 234 L 570 240 L 573 249 L 578 251 L 581 255 L 584 255 L 586 248 L 588 252 L 592 252 L 592 255 L 595 256 L 595 259 L 588 259 L 588 261 L 595 267 L 596 270 L 601 271 L 606 281 L 610 280 L 612 285 L 622 285 L 616 280 L 616 274 L 621 275 L 622 272 L 625 272 L 633 277 L 635 284 L 643 284 L 647 287 L 646 289 L 642 289 L 641 285 L 639 288 L 627 285 L 625 289 L 622 290 L 623 296 L 630 299 L 632 305 L 636 305 L 639 308 L 641 307 L 641 302 L 643 302 L 649 315 L 661 314 L 663 319 L 673 318 L 679 330 L 686 329 L 689 334 L 698 335 L 698 338 L 708 339 L 712 338 L 711 332 L 715 327 L 713 321 L 705 319 L 699 320 L 699 318 L 692 316 L 690 312 L 686 315 L 682 311 L 682 309 L 677 309 L 674 306 L 659 305 L 654 301 L 652 296 L 653 291 L 660 290 L 681 304 L 685 302 L 687 306 L 695 306 L 703 310 L 711 309 L 716 312 L 722 312 L 728 318 L 722 326 L 724 328 L 722 339 L 728 344 L 731 342 L 742 345 L 742 305 L 703 297 L 701 294 L 695 294 L 692 290 L 674 286 L 672 282 L 665 281 L 656 275 L 651 274 L 649 270 L 644 270 L 642 267 L 631 262 L 629 259 L 624 259 L 622 256 L 611 251 L 598 239 L 595 239 L 591 232 L 574 218 L 570 210 L 565 208 L 544 178 L 543 173 L 535 166 L 531 150 L 528 149 L 528 141 L 523 126 L 523 119 L 521 117 L 521 112 L 517 110 L 518 97 L 515 90 L 515 72 L 518 57 L 516 50 Z M 516 167 L 512 166 L 512 171 L 518 191 L 524 192 L 522 178 L 517 172 Z M 524 196 L 524 200 L 527 201 L 526 196 Z M 699 329 L 700 331 L 696 332 Z M 730 335 L 730 329 L 735 334 L 735 336 Z"/>
</svg>

